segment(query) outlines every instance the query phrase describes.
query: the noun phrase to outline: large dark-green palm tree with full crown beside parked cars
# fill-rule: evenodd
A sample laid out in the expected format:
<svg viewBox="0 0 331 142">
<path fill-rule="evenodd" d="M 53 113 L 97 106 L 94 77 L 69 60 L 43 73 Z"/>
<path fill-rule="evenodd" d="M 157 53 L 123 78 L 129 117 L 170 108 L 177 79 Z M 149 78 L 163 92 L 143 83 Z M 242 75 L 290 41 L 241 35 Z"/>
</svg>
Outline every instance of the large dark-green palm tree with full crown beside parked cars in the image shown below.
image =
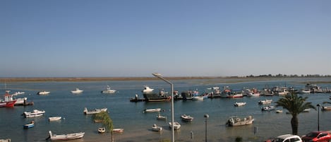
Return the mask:
<svg viewBox="0 0 331 142">
<path fill-rule="evenodd" d="M 292 127 L 292 134 L 298 134 L 298 127 L 299 127 L 299 119 L 298 115 L 308 108 L 312 108 L 316 110 L 315 106 L 311 105 L 311 102 L 306 102 L 308 97 L 298 97 L 296 93 L 291 93 L 291 95 L 285 95 L 281 97 L 276 102 L 276 107 L 283 107 L 284 109 L 288 110 L 289 113 L 292 115 L 291 118 L 291 127 Z"/>
</svg>

